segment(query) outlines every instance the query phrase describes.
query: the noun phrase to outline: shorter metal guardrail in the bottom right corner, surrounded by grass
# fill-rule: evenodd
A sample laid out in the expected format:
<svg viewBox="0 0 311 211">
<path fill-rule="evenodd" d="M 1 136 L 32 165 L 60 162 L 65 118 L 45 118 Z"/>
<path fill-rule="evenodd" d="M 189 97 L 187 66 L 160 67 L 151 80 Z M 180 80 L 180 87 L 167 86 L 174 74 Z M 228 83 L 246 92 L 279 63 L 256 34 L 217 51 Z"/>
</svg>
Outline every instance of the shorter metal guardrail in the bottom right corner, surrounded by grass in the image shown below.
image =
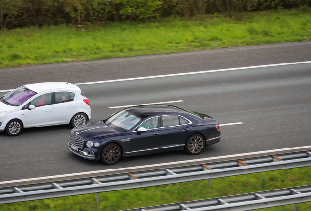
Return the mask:
<svg viewBox="0 0 311 211">
<path fill-rule="evenodd" d="M 311 201 L 311 185 L 123 211 L 247 211 Z"/>
</svg>

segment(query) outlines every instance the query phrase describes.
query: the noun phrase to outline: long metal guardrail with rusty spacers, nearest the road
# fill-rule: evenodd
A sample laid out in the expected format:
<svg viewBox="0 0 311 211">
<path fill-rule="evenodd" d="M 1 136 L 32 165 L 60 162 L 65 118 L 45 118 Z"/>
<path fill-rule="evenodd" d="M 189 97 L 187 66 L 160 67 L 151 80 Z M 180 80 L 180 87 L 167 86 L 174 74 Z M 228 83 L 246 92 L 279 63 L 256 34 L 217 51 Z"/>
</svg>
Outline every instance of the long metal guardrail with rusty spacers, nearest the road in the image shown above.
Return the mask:
<svg viewBox="0 0 311 211">
<path fill-rule="evenodd" d="M 126 190 L 306 166 L 311 166 L 310 151 L 12 186 L 0 188 L 0 204 Z"/>
</svg>

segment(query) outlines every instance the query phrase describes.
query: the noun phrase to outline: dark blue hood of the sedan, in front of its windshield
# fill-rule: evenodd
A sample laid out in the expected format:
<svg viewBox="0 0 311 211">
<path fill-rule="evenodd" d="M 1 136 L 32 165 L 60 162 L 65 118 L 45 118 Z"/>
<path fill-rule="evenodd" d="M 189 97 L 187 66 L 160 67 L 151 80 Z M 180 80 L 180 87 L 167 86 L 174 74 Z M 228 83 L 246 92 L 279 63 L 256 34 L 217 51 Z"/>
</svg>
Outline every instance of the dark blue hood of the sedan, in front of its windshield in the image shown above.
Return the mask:
<svg viewBox="0 0 311 211">
<path fill-rule="evenodd" d="M 83 138 L 84 140 L 89 140 L 103 136 L 111 136 L 122 132 L 108 127 L 105 123 L 103 123 L 103 121 L 98 121 L 75 127 L 71 130 L 71 133 Z"/>
</svg>

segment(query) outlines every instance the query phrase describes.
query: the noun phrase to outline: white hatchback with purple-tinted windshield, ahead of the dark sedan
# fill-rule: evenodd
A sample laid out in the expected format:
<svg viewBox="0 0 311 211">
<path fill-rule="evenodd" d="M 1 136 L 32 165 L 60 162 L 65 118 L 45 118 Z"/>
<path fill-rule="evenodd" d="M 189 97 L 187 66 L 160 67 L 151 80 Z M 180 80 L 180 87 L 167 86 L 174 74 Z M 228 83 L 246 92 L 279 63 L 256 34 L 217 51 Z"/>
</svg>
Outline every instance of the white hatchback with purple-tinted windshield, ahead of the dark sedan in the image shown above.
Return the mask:
<svg viewBox="0 0 311 211">
<path fill-rule="evenodd" d="M 77 127 L 90 118 L 88 98 L 78 86 L 67 82 L 27 84 L 0 98 L 0 132 L 10 136 L 27 127 Z"/>
</svg>

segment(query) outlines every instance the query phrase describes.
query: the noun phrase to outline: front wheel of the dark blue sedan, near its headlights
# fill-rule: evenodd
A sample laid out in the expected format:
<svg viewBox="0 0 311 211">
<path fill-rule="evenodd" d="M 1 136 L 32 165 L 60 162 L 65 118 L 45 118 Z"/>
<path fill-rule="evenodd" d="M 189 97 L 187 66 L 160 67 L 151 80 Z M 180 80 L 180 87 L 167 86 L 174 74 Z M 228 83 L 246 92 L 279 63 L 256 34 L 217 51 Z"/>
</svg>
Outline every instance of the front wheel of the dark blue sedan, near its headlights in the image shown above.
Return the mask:
<svg viewBox="0 0 311 211">
<path fill-rule="evenodd" d="M 121 147 L 116 143 L 106 145 L 100 153 L 100 160 L 106 165 L 117 163 L 122 155 Z"/>
</svg>

